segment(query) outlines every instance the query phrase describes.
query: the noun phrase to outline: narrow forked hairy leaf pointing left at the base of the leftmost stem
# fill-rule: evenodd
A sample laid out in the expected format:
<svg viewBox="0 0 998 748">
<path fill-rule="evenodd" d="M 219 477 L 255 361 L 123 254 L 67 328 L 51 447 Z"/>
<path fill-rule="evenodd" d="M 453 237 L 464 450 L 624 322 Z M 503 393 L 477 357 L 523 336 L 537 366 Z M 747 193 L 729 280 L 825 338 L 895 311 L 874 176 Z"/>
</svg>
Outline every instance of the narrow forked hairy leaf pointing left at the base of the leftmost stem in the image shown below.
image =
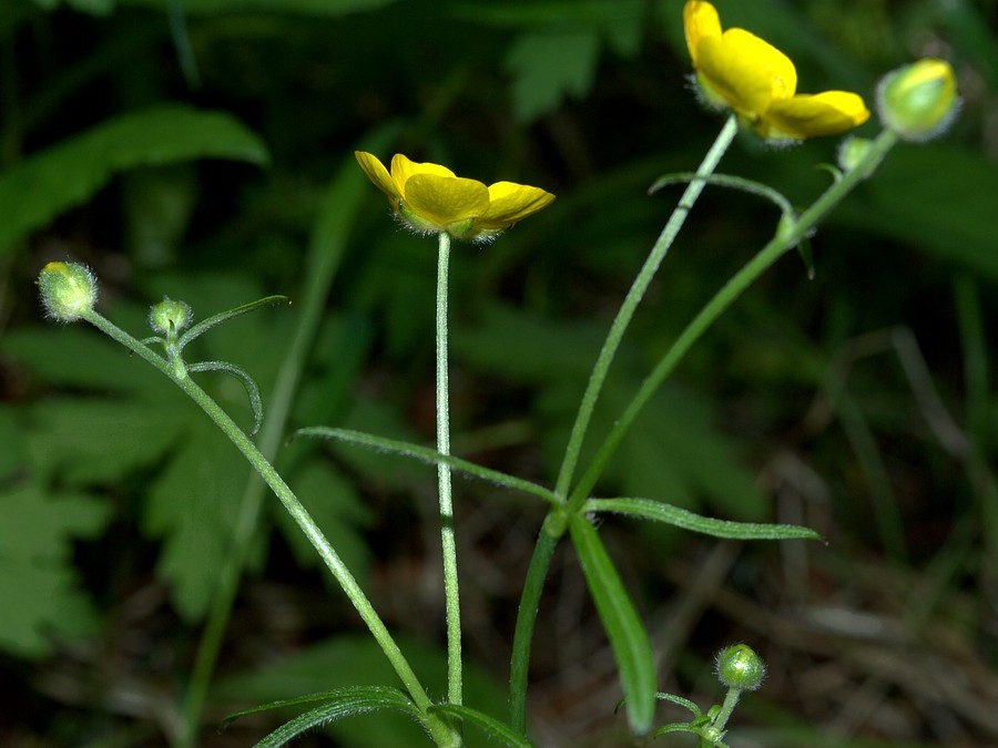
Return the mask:
<svg viewBox="0 0 998 748">
<path fill-rule="evenodd" d="M 256 748 L 279 748 L 279 746 L 285 745 L 293 738 L 316 727 L 320 727 L 337 719 L 343 719 L 344 717 L 353 717 L 355 715 L 368 714 L 371 711 L 400 711 L 413 717 L 416 721 L 422 723 L 422 715 L 419 709 L 413 704 L 411 699 L 398 688 L 388 686 L 349 686 L 346 688 L 335 688 L 319 694 L 299 696 L 298 698 L 271 701 L 269 704 L 263 704 L 251 709 L 243 709 L 242 711 L 236 711 L 225 717 L 220 727 L 224 729 L 241 717 L 259 714 L 261 711 L 269 711 L 272 709 L 281 709 L 302 704 L 315 704 L 316 701 L 322 701 L 322 706 L 301 714 L 291 721 L 285 723 L 257 742 Z"/>
</svg>

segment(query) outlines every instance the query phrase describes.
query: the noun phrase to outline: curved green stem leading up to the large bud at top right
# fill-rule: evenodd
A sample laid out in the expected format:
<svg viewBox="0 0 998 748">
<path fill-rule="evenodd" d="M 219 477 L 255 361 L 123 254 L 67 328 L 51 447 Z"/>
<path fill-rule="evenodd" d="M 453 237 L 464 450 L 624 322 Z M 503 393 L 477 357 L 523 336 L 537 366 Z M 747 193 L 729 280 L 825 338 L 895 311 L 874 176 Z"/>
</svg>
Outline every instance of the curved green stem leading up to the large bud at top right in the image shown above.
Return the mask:
<svg viewBox="0 0 998 748">
<path fill-rule="evenodd" d="M 867 152 L 864 160 L 847 174 L 838 178 L 828 189 L 826 189 L 814 204 L 808 207 L 795 223 L 792 225 L 783 225 L 777 230 L 776 236 L 763 247 L 755 257 L 742 267 L 732 278 L 717 291 L 717 294 L 700 310 L 693 320 L 682 331 L 672 347 L 659 360 L 659 363 L 652 372 L 645 378 L 638 393 L 628 404 L 624 412 L 617 420 L 610 433 L 603 440 L 603 443 L 597 450 L 597 454 L 583 473 L 579 483 L 572 490 L 569 499 L 569 512 L 578 511 L 582 503 L 589 498 L 589 492 L 595 485 L 600 475 L 607 467 L 613 452 L 620 445 L 621 440 L 627 434 L 631 424 L 638 418 L 638 414 L 648 404 L 652 396 L 659 390 L 665 379 L 673 372 L 679 362 L 683 359 L 690 348 L 696 340 L 714 324 L 714 321 L 724 312 L 742 293 L 755 281 L 773 263 L 775 263 L 784 253 L 795 247 L 803 238 L 808 236 L 815 225 L 833 208 L 843 197 L 863 180 L 868 170 L 877 164 L 880 158 L 897 143 L 897 136 L 885 130 L 874 141 L 872 147 Z"/>
</svg>

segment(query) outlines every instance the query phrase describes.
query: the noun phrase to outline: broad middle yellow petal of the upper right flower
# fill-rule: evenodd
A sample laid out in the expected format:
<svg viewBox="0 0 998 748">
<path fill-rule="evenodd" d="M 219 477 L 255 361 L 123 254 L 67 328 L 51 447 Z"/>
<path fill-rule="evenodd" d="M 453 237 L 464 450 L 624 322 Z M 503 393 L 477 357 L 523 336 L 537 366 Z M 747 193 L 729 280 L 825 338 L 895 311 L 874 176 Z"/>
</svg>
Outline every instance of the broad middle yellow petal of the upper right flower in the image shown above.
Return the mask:
<svg viewBox="0 0 998 748">
<path fill-rule="evenodd" d="M 732 109 L 757 119 L 776 99 L 797 85 L 794 63 L 783 52 L 744 29 L 700 41 L 700 73 Z"/>
</svg>

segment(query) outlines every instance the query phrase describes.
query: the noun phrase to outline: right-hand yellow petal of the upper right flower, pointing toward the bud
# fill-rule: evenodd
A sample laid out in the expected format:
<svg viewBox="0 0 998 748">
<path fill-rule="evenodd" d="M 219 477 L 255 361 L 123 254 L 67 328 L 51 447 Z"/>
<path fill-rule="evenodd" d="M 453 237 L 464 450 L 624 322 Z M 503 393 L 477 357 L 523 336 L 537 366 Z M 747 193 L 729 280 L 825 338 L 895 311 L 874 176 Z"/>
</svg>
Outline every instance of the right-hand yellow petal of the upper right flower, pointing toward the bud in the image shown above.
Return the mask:
<svg viewBox="0 0 998 748">
<path fill-rule="evenodd" d="M 775 101 L 763 117 L 766 137 L 814 137 L 835 135 L 856 127 L 869 119 L 863 99 L 847 91 L 800 94 Z"/>
</svg>

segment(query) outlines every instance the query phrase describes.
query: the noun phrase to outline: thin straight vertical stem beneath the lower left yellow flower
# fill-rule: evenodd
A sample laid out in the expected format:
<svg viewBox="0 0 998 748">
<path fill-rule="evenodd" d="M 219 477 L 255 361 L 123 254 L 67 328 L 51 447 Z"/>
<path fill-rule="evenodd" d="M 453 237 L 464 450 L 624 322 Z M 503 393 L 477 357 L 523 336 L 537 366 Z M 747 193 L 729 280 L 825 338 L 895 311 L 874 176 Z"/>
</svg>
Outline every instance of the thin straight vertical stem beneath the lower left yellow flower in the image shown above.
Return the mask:
<svg viewBox="0 0 998 748">
<path fill-rule="evenodd" d="M 447 383 L 447 268 L 450 234 L 440 232 L 437 259 L 437 451 L 450 454 L 450 398 Z M 454 499 L 450 465 L 437 465 L 440 494 L 440 543 L 444 549 L 444 595 L 447 601 L 447 700 L 461 703 L 461 605 L 458 593 L 457 546 L 454 540 Z"/>
</svg>

